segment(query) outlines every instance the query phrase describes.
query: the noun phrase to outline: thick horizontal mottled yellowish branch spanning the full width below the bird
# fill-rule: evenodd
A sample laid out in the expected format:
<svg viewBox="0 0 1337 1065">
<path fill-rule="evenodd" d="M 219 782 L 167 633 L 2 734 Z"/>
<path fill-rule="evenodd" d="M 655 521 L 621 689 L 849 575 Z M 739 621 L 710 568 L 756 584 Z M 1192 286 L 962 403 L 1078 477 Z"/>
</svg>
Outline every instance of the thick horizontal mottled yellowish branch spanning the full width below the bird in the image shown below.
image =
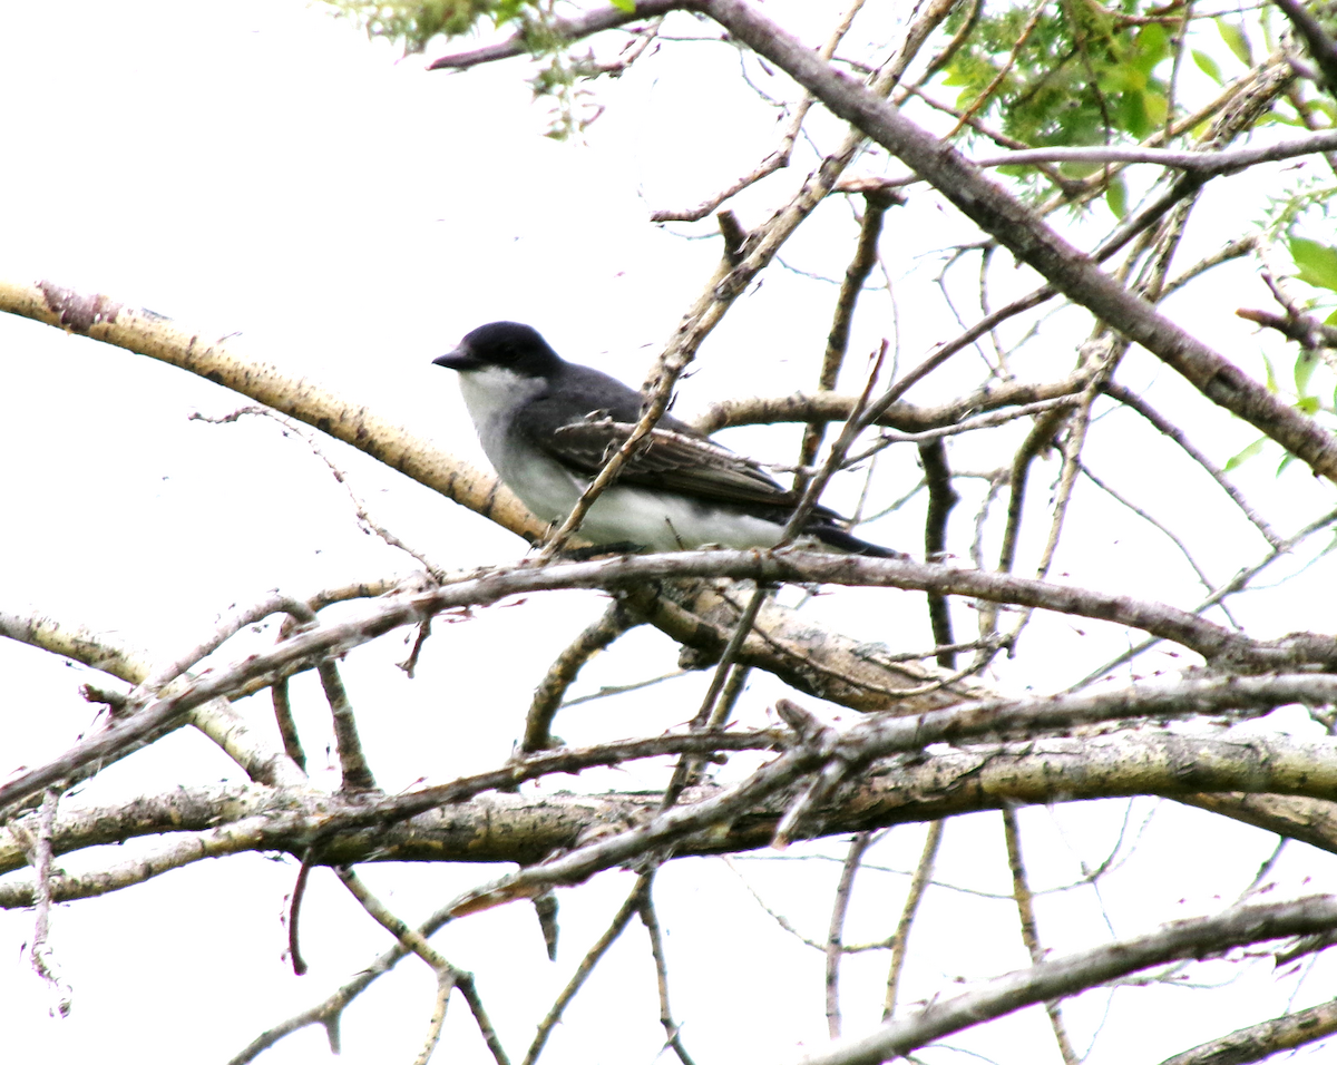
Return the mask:
<svg viewBox="0 0 1337 1065">
<path fill-rule="evenodd" d="M 698 734 L 677 739 L 686 747 L 703 738 Z M 717 747 L 722 746 L 718 736 L 715 740 Z M 567 771 L 574 770 L 568 766 Z M 168 836 L 159 855 L 103 873 L 56 875 L 51 881 L 52 899 L 104 894 L 209 857 L 242 851 L 302 854 L 318 836 L 318 861 L 330 865 L 537 862 L 582 839 L 651 820 L 662 798 L 659 792 L 479 795 L 484 783 L 499 787 L 497 782 L 505 779 L 508 771 L 503 770 L 427 790 L 425 798 L 435 802 L 424 803 L 424 812 L 409 820 L 401 818 L 417 795 L 353 803 L 258 784 L 172 788 L 118 807 L 80 808 L 67 800 L 52 831 L 55 854 L 150 834 L 182 838 Z M 459 798 L 452 799 L 452 792 Z M 682 803 L 690 807 L 721 792 L 709 784 L 690 788 Z M 1193 738 L 1142 728 L 892 758 L 829 796 L 809 823 L 833 835 L 1005 806 L 1162 795 L 1337 853 L 1337 806 L 1326 802 L 1334 792 L 1337 739 L 1300 743 L 1285 736 Z M 787 803 L 789 794 L 781 792 L 745 804 L 727 823 L 678 838 L 674 854 L 765 847 Z M 17 871 L 25 865 L 17 836 L 0 841 L 0 871 Z M 0 883 L 0 907 L 31 906 L 33 898 L 32 882 Z"/>
</svg>

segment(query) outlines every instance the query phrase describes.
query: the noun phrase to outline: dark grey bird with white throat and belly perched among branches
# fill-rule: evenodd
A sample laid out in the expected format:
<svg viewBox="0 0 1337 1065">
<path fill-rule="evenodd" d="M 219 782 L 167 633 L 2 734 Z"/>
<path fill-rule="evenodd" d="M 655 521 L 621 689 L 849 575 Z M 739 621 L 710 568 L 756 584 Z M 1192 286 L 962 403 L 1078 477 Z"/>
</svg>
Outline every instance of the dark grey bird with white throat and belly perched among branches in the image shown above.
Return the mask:
<svg viewBox="0 0 1337 1065">
<path fill-rule="evenodd" d="M 517 322 L 479 326 L 432 362 L 459 371 L 483 450 L 544 521 L 566 520 L 640 421 L 639 392 L 567 362 Z M 666 414 L 590 508 L 579 535 L 650 551 L 769 548 L 797 502 L 757 462 Z M 850 536 L 825 506 L 813 508 L 801 536 L 842 552 L 905 557 Z"/>
</svg>

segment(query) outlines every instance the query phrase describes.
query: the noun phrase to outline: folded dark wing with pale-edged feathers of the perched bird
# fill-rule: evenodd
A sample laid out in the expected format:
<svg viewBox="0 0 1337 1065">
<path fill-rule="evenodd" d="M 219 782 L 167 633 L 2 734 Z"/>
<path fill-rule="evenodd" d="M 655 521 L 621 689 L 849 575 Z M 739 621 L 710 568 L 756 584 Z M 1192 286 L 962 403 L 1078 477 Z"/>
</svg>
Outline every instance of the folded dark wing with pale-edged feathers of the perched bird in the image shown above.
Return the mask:
<svg viewBox="0 0 1337 1065">
<path fill-rule="evenodd" d="M 594 412 L 582 421 L 563 425 L 535 440 L 554 458 L 571 469 L 594 476 L 627 442 L 634 422 L 616 421 Z M 686 432 L 683 432 L 686 430 Z M 655 428 L 628 458 L 619 478 L 660 492 L 698 498 L 730 500 L 769 506 L 793 506 L 794 497 L 757 464 L 687 429 Z"/>
</svg>

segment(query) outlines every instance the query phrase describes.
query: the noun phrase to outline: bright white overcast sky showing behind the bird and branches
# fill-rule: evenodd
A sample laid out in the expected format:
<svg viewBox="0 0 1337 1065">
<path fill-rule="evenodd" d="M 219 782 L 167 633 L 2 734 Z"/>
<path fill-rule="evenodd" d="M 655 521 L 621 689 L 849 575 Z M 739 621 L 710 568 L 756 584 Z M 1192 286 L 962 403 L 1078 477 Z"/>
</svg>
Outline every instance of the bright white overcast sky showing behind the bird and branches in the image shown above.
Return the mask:
<svg viewBox="0 0 1337 1065">
<path fill-rule="evenodd" d="M 794 5 L 767 9 L 794 24 Z M 904 5 L 894 9 L 904 15 Z M 431 359 L 468 329 L 512 318 L 537 326 L 568 357 L 639 382 L 718 255 L 718 241 L 681 239 L 651 226 L 648 211 L 699 202 L 754 166 L 777 135 L 770 111 L 738 83 L 737 55 L 718 44 L 678 49 L 616 83 L 600 83 L 595 92 L 607 111 L 587 143 L 575 146 L 541 136 L 547 106 L 531 102 L 521 63 L 427 75 L 422 57 L 394 61 L 388 47 L 369 45 L 320 5 L 90 1 L 62 4 L 57 19 L 43 5 L 0 0 L 0 92 L 9 102 L 0 168 L 9 210 L 0 218 L 0 270 L 107 293 L 206 335 L 239 333 L 231 342 L 243 350 L 357 397 L 479 462 L 453 382 Z M 817 116 L 814 128 L 824 146 L 840 136 L 825 116 Z M 808 158 L 739 200 L 745 224 L 757 224 L 782 202 L 781 190 L 802 180 Z M 1237 192 L 1213 188 L 1209 196 L 1185 262 L 1194 258 L 1193 249 L 1202 254 L 1219 243 L 1213 218 L 1237 222 Z M 842 203 L 821 210 L 848 214 Z M 673 229 L 705 234 L 710 223 Z M 822 243 L 820 224 L 810 230 L 786 247 L 785 261 L 838 277 L 848 243 Z M 929 306 L 933 289 L 910 277 L 916 257 L 969 235 L 949 208 L 923 194 L 888 216 L 884 251 L 904 285 L 902 363 L 956 333 L 939 311 L 917 313 Z M 1028 271 L 1011 279 L 996 273 L 1000 287 L 1031 285 Z M 1222 277 L 1209 298 L 1171 303 L 1171 311 L 1218 349 L 1243 351 L 1241 362 L 1255 370 L 1261 342 L 1231 311 L 1239 303 L 1263 306 L 1265 297 L 1247 267 Z M 833 294 L 829 286 L 771 271 L 703 349 L 679 410 L 690 414 L 739 392 L 781 394 L 809 385 Z M 853 351 L 872 349 L 890 331 L 885 298 L 868 302 L 874 310 L 860 319 Z M 1036 374 L 1066 365 L 1071 346 L 1042 350 L 1034 359 Z M 969 373 L 976 373 L 973 365 Z M 1187 386 L 1144 355 L 1131 357 L 1120 378 L 1151 389 L 1163 409 L 1195 402 Z M 187 421 L 194 410 L 218 416 L 246 402 L 205 381 L 45 326 L 0 321 L 0 382 L 8 456 L 0 464 L 0 604 L 8 609 L 39 604 L 63 620 L 114 629 L 128 643 L 167 653 L 195 643 L 231 604 L 250 603 L 269 588 L 308 595 L 413 568 L 412 560 L 357 532 L 344 490 L 305 445 L 283 438 L 275 425 Z M 932 396 L 931 386 L 920 398 Z M 1198 441 L 1223 461 L 1251 438 L 1238 422 L 1214 417 L 1199 426 Z M 778 461 L 793 450 L 790 430 L 747 430 L 729 440 Z M 1206 478 L 1167 458 L 1167 449 L 1152 450 L 1152 442 L 1128 420 L 1118 433 L 1098 434 L 1088 457 L 1183 535 L 1209 540 L 1205 561 L 1217 580 L 1241 559 L 1259 557 L 1262 541 L 1242 528 L 1219 493 L 1205 490 Z M 324 446 L 376 517 L 441 564 L 468 567 L 519 553 L 515 537 L 484 520 L 342 445 Z M 961 466 L 1000 461 L 961 446 Z M 913 484 L 910 456 L 893 453 L 888 464 L 889 481 L 902 474 L 900 490 Z M 1239 482 L 1284 535 L 1330 506 L 1330 493 L 1321 496 L 1326 489 L 1302 470 L 1277 480 L 1273 466 L 1274 460 L 1246 466 Z M 1055 473 L 1050 462 L 1036 476 L 1040 504 Z M 837 485 L 836 492 L 848 508 L 857 485 Z M 1060 555 L 1056 573 L 1181 605 L 1199 597 L 1185 567 L 1147 564 L 1151 545 L 1161 551 L 1155 533 L 1122 518 L 1115 525 L 1115 512 L 1099 500 L 1087 497 L 1086 504 L 1068 533 L 1082 549 Z M 964 528 L 969 506 L 959 513 Z M 915 545 L 921 543 L 920 520 L 917 510 L 894 516 L 870 536 Z M 1326 587 L 1332 567 L 1318 567 L 1305 580 L 1308 588 Z M 818 600 L 812 609 L 844 631 L 920 647 L 920 600 L 913 597 L 912 609 L 886 605 L 910 600 L 852 592 Z M 523 611 L 485 611 L 469 624 L 441 625 L 416 681 L 393 668 L 404 656 L 394 640 L 354 653 L 345 676 L 381 783 L 400 788 L 424 775 L 445 780 L 499 763 L 547 661 L 600 609 L 598 596 L 554 595 Z M 1259 593 L 1241 612 L 1258 635 L 1332 629 L 1330 597 L 1297 595 L 1296 585 Z M 1046 669 L 1029 659 L 1004 663 L 1000 683 L 1062 686 L 1120 645 L 1118 633 L 1062 620 L 1038 623 L 1025 639 L 1048 641 L 1048 653 L 1036 656 Z M 592 665 L 578 691 L 667 671 L 673 663 L 666 639 L 638 632 Z M 1147 660 L 1148 669 L 1167 664 Z M 0 774 L 39 764 L 88 727 L 91 710 L 78 686 L 95 679 L 91 671 L 12 645 L 0 645 Z M 564 715 L 558 731 L 572 743 L 652 732 L 689 718 L 703 684 L 705 677 L 691 676 L 634 700 L 592 703 Z M 753 719 L 779 691 L 766 677 L 754 681 Z M 303 735 L 325 735 L 312 677 L 297 681 L 294 692 Z M 247 712 L 265 720 L 267 710 Z M 309 754 L 320 764 L 318 740 L 309 743 Z M 79 800 L 114 802 L 225 775 L 233 775 L 230 763 L 182 732 L 118 764 Z M 606 774 L 566 783 L 586 790 L 636 779 Z M 1151 808 L 1148 800 L 1132 803 L 1134 828 Z M 1067 882 L 1080 875 L 1083 862 L 1102 861 L 1124 811 L 1123 803 L 1024 811 L 1036 885 Z M 996 816 L 953 820 L 947 835 L 941 879 L 1007 890 Z M 919 826 L 900 828 L 881 859 L 908 869 L 921 841 Z M 1131 934 L 1217 909 L 1247 883 L 1271 846 L 1261 832 L 1222 832 L 1206 815 L 1163 807 L 1147 824 L 1136 859 L 1111 878 L 1104 903 L 1112 930 Z M 127 846 L 99 861 L 132 853 Z M 773 907 L 821 938 L 833 863 L 746 859 L 738 869 Z M 74 1014 L 62 1022 L 45 1018 L 45 993 L 20 955 L 31 914 L 0 915 L 12 959 L 0 967 L 0 1016 L 13 1060 L 39 1053 L 91 1060 L 108 1045 L 148 1062 L 226 1060 L 265 1028 L 314 1004 L 388 939 L 333 875 L 318 870 L 302 915 L 312 973 L 293 977 L 281 958 L 281 915 L 294 873 L 291 862 L 245 857 L 60 907 L 53 946 L 75 986 Z M 409 921 L 493 875 L 428 866 L 364 873 Z M 1280 866 L 1278 894 L 1326 886 L 1333 873 L 1332 857 L 1292 845 Z M 1320 879 L 1302 887 L 1305 875 Z M 719 862 L 682 862 L 666 867 L 660 881 L 674 1006 L 699 1060 L 782 1060 L 798 1041 L 824 1038 L 820 955 L 775 931 L 733 871 Z M 872 890 L 856 897 L 852 941 L 886 934 L 905 878 L 868 870 L 861 885 Z M 543 957 L 527 907 L 472 918 L 437 937 L 452 961 L 477 971 L 516 1060 L 532 1024 L 628 889 L 628 875 L 606 874 L 563 893 L 564 939 L 555 966 Z M 1076 949 L 1108 934 L 1098 902 L 1090 890 L 1046 897 L 1042 922 L 1056 947 Z M 925 937 L 936 937 L 937 946 L 912 951 L 910 998 L 951 990 L 944 981 L 956 975 L 1024 963 L 1008 902 L 935 890 L 925 906 L 924 927 L 935 930 Z M 412 1058 L 432 989 L 424 973 L 402 967 L 404 974 L 382 981 L 346 1013 L 344 1061 Z M 884 969 L 881 954 L 850 961 L 849 1030 L 876 1018 Z M 1142 1053 L 1150 1046 L 1148 1060 L 1158 1060 L 1158 1053 L 1273 1016 L 1297 979 L 1250 975 L 1218 992 L 1214 1016 L 1202 1017 L 1185 1009 L 1193 998 L 1187 990 L 1124 993 L 1115 998 L 1106 1042 L 1091 1060 L 1119 1061 L 1124 1036 Z M 1324 986 L 1316 974 L 1297 1002 L 1321 997 Z M 1079 1048 L 1104 1002 L 1095 994 L 1070 1008 Z M 655 1014 L 648 951 L 632 923 L 554 1036 L 545 1060 L 652 1061 L 660 1044 Z M 471 1024 L 455 1000 L 440 1060 L 489 1060 Z M 999 1030 L 1011 1033 L 1005 1042 L 995 1041 Z M 1054 1057 L 1034 1010 L 985 1038 L 957 1042 L 988 1046 L 1008 1062 Z M 927 1060 L 959 1057 L 941 1052 Z M 308 1030 L 263 1060 L 324 1061 L 324 1036 Z"/>
</svg>

